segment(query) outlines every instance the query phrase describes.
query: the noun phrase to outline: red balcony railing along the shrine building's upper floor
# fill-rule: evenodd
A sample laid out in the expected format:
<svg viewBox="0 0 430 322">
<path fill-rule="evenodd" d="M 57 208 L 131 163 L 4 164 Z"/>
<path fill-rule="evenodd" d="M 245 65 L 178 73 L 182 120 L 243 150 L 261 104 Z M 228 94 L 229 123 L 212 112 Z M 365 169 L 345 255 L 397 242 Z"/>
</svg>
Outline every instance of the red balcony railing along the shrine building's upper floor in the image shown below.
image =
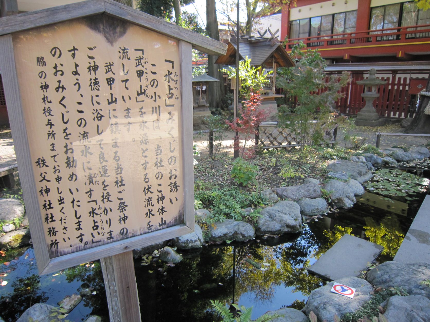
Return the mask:
<svg viewBox="0 0 430 322">
<path fill-rule="evenodd" d="M 420 28 L 417 30 L 417 28 Z M 377 30 L 354 31 L 351 33 L 335 33 L 323 36 L 311 36 L 289 39 L 286 48 L 292 48 L 295 43 L 302 41 L 307 47 L 360 46 L 362 43 L 412 42 L 417 38 L 430 38 L 430 24 L 416 26 L 394 27 Z M 387 43 L 388 44 L 388 43 Z"/>
</svg>

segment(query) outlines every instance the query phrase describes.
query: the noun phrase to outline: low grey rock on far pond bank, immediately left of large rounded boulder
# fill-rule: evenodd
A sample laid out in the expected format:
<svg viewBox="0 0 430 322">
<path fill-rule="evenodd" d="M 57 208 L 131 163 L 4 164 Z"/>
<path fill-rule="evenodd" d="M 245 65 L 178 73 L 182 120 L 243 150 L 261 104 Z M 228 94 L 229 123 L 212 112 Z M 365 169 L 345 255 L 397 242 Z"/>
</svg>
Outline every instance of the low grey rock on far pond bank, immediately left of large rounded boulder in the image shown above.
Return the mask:
<svg viewBox="0 0 430 322">
<path fill-rule="evenodd" d="M 246 241 L 255 238 L 255 231 L 252 225 L 247 222 L 237 222 L 227 219 L 224 222 L 216 222 L 209 228 L 210 241 L 236 240 Z"/>
</svg>

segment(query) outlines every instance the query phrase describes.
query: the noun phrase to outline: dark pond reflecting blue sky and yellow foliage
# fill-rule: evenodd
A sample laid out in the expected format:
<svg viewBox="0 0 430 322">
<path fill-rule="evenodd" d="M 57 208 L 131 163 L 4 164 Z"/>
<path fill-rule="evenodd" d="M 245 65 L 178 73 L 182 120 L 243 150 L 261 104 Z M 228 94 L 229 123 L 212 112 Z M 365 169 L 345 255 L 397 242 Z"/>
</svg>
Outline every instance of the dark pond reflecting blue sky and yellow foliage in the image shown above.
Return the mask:
<svg viewBox="0 0 430 322">
<path fill-rule="evenodd" d="M 407 185 L 407 178 L 403 179 Z M 408 191 L 401 181 L 393 183 L 399 195 L 392 199 L 381 193 L 390 187 L 370 182 L 352 208 L 307 219 L 301 234 L 262 236 L 242 244 L 215 243 L 199 252 L 182 252 L 184 260 L 176 265 L 136 260 L 142 317 L 145 321 L 218 321 L 210 300 L 231 303 L 234 299 L 239 305 L 253 306 L 253 319 L 283 306 L 301 309 L 310 292 L 326 283 L 306 268 L 343 234 L 383 245 L 380 262 L 393 258 L 425 196 L 412 188 Z M 0 282 L 8 282 L 0 286 L 0 316 L 5 321 L 15 321 L 35 303 L 56 306 L 64 296 L 83 288 L 93 294 L 84 297 L 66 319 L 83 321 L 96 314 L 108 321 L 98 261 L 39 277 L 32 248 L 1 255 Z"/>
</svg>

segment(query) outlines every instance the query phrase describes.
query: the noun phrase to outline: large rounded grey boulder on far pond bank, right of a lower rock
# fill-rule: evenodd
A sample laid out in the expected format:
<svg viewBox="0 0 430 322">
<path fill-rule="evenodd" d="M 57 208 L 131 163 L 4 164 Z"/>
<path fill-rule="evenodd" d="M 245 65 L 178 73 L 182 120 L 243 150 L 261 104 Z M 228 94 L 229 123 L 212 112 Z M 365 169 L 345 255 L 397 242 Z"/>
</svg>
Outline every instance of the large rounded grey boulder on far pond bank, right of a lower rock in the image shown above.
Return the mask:
<svg viewBox="0 0 430 322">
<path fill-rule="evenodd" d="M 261 210 L 257 234 L 283 234 L 301 231 L 300 206 L 294 201 L 279 201 Z"/>
</svg>

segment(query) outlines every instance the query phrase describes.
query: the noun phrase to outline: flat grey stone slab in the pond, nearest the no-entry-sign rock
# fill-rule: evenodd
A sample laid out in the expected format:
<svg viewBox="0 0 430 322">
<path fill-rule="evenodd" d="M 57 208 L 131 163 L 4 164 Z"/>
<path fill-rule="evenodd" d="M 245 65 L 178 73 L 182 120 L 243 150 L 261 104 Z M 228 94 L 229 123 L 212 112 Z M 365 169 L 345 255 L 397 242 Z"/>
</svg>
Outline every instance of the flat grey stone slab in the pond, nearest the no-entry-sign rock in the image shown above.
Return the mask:
<svg viewBox="0 0 430 322">
<path fill-rule="evenodd" d="M 367 263 L 373 263 L 383 249 L 383 246 L 345 234 L 307 270 L 329 281 L 359 277 L 367 270 Z"/>
</svg>

